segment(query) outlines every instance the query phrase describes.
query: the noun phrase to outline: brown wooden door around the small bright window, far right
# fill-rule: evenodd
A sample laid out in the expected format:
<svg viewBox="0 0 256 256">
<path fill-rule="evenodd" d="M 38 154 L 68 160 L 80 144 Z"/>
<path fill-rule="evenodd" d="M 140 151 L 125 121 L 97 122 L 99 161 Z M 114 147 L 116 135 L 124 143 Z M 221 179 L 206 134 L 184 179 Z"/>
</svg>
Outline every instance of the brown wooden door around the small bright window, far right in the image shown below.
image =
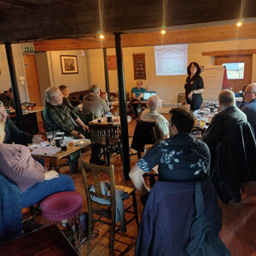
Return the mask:
<svg viewBox="0 0 256 256">
<path fill-rule="evenodd" d="M 229 79 L 229 83 L 230 88 L 233 88 L 234 92 L 238 93 L 245 84 L 252 83 L 253 55 L 215 56 L 215 65 L 236 62 L 244 62 L 244 77 L 243 79 Z"/>
</svg>

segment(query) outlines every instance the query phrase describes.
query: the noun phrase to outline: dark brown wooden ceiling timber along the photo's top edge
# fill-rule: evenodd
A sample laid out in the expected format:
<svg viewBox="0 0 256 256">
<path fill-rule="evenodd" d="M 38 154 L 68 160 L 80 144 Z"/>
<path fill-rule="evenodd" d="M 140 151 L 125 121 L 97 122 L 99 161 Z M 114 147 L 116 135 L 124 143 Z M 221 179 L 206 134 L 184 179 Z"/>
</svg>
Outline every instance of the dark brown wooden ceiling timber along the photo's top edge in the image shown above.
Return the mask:
<svg viewBox="0 0 256 256">
<path fill-rule="evenodd" d="M 235 20 L 241 15 L 243 18 L 256 17 L 255 0 L 247 0 L 243 7 L 237 0 L 207 0 L 193 4 L 190 0 L 100 2 L 101 15 L 96 0 L 9 0 L 10 6 L 0 0 L 0 42 L 78 38 L 91 36 L 98 30 L 131 33 L 137 30 L 156 30 L 162 25 L 186 26 Z M 162 7 L 164 2 L 165 9 Z M 177 34 L 175 38 L 182 37 L 178 32 L 172 33 Z"/>
</svg>

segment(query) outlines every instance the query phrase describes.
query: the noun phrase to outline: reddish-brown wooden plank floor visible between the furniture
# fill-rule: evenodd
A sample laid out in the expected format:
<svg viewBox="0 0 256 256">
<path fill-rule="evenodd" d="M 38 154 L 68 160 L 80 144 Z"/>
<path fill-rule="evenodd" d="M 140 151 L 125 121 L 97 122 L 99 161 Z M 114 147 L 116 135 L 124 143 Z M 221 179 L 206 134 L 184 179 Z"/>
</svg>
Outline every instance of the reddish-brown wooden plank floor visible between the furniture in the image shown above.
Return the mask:
<svg viewBox="0 0 256 256">
<path fill-rule="evenodd" d="M 166 115 L 166 114 L 165 114 Z M 166 115 L 167 117 L 168 115 Z M 136 121 L 134 119 L 129 123 L 129 136 L 132 137 Z M 83 154 L 83 160 L 88 161 L 90 155 Z M 137 156 L 131 156 L 131 167 L 137 162 Z M 111 158 L 111 163 L 115 166 L 115 178 L 117 184 L 129 184 L 131 181 L 124 181 L 122 161 L 118 156 Z M 84 193 L 84 185 L 80 173 L 71 174 L 68 166 L 61 167 L 61 173 L 70 174 L 73 177 L 76 191 L 84 197 L 83 211 L 87 210 L 87 202 Z M 142 216 L 143 207 L 139 201 L 137 193 L 137 205 L 139 219 Z M 226 206 L 220 202 L 223 211 L 223 228 L 220 232 L 220 238 L 230 249 L 232 256 L 256 256 L 256 183 L 245 184 L 245 193 L 242 195 L 239 204 L 230 203 Z M 38 222 L 42 218 L 38 218 Z M 137 239 L 137 225 L 135 221 L 127 226 L 125 234 L 117 233 L 115 236 L 114 250 L 110 252 L 108 227 L 103 224 L 96 224 L 96 230 L 99 230 L 99 236 L 85 243 L 80 254 L 88 256 L 96 255 L 134 255 L 134 248 Z M 170 255 L 172 253 L 170 252 Z M 156 255 L 157 256 L 157 255 Z M 175 255 L 173 255 L 175 256 Z M 211 256 L 211 255 L 209 255 Z"/>
</svg>

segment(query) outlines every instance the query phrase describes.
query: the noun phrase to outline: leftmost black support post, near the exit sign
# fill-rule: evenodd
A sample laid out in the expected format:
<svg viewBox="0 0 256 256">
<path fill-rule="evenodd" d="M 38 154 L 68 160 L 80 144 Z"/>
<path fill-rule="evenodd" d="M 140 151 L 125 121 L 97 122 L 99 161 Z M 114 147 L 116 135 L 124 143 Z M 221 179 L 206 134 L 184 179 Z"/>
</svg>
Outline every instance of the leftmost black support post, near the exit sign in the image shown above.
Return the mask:
<svg viewBox="0 0 256 256">
<path fill-rule="evenodd" d="M 20 128 L 20 130 L 23 130 L 22 110 L 20 105 L 20 93 L 19 93 L 17 82 L 16 82 L 17 79 L 15 74 L 14 56 L 13 56 L 11 44 L 10 43 L 4 43 L 4 44 L 5 44 L 5 50 L 7 55 L 7 61 L 9 65 L 9 75 L 11 79 L 14 102 L 15 102 L 16 125 Z"/>
</svg>

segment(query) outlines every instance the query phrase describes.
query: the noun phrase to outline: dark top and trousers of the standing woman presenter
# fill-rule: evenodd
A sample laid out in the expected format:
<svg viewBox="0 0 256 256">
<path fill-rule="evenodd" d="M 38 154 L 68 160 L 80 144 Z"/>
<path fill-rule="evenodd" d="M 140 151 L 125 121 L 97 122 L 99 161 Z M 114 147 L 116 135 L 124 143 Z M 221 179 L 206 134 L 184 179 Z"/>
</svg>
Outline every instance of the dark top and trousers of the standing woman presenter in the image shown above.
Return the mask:
<svg viewBox="0 0 256 256">
<path fill-rule="evenodd" d="M 193 93 L 192 99 L 189 99 L 188 95 L 191 90 L 204 89 L 204 81 L 201 78 L 201 76 L 195 74 L 192 77 L 192 79 L 190 79 L 190 76 L 188 76 L 186 79 L 186 84 L 184 85 L 184 88 L 185 88 L 186 101 L 188 104 L 190 104 L 190 109 L 193 111 L 200 109 L 201 103 L 203 102 L 201 94 Z"/>
</svg>

